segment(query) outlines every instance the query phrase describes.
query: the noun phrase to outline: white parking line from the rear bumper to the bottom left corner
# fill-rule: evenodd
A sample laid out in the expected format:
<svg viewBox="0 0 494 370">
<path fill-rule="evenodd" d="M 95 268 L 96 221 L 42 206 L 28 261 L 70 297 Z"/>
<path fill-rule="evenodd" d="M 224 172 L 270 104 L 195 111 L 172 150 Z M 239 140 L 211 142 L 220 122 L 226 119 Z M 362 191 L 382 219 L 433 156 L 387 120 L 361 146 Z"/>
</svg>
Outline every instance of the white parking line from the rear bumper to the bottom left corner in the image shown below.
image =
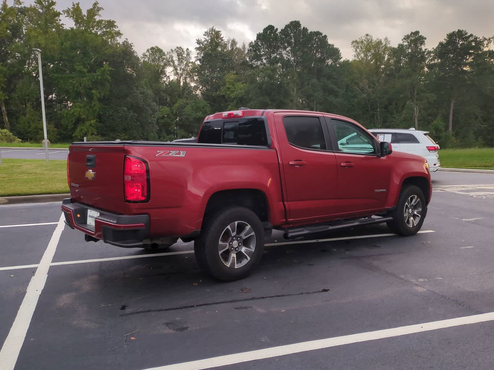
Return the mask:
<svg viewBox="0 0 494 370">
<path fill-rule="evenodd" d="M 2 370 L 13 370 L 15 363 L 17 362 L 17 357 L 19 356 L 22 344 L 24 343 L 24 338 L 26 337 L 26 333 L 29 329 L 29 324 L 33 318 L 36 304 L 38 303 L 41 291 L 46 283 L 51 260 L 53 259 L 58 241 L 60 240 L 60 235 L 62 235 L 62 231 L 65 226 L 63 219 L 64 216 L 62 214 L 60 215 L 60 220 L 58 221 L 55 231 L 53 231 L 50 242 L 44 251 L 43 257 L 38 265 L 38 269 L 29 282 L 26 295 L 22 300 L 19 311 L 17 311 L 17 316 L 15 317 L 14 323 L 10 328 L 10 332 L 1 347 L 0 364 L 3 364 Z"/>
</svg>

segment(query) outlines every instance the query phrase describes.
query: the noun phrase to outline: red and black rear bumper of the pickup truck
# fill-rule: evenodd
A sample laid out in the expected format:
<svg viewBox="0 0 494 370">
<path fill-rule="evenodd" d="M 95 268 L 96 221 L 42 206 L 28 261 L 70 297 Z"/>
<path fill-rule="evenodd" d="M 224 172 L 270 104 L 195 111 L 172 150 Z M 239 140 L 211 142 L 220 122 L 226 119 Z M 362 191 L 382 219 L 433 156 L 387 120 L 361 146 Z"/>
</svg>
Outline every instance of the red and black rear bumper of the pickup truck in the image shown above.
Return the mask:
<svg viewBox="0 0 494 370">
<path fill-rule="evenodd" d="M 100 213 L 94 219 L 94 226 L 86 223 L 88 209 Z M 71 198 L 62 201 L 62 211 L 69 227 L 117 247 L 142 247 L 143 240 L 149 238 L 148 215 L 116 215 L 82 203 L 74 203 Z"/>
</svg>

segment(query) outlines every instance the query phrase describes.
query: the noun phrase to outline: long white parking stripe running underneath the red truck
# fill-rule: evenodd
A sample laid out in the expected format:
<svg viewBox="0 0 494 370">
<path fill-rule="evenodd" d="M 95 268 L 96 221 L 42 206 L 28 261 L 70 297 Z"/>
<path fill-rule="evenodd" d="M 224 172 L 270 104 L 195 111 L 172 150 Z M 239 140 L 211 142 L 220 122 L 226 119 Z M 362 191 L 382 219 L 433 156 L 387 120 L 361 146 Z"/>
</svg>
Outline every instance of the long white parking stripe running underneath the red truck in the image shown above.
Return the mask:
<svg viewBox="0 0 494 370">
<path fill-rule="evenodd" d="M 419 233 L 429 233 L 429 232 L 435 232 L 435 231 L 434 230 L 419 231 Z M 346 237 L 341 237 L 341 238 L 329 238 L 329 239 L 298 240 L 298 241 L 294 241 L 294 242 L 269 243 L 269 244 L 266 244 L 266 246 L 270 247 L 270 246 L 285 245 L 285 244 L 320 243 L 320 242 L 325 242 L 325 241 L 376 238 L 376 237 L 380 237 L 380 236 L 396 236 L 396 234 L 387 233 L 387 234 L 346 236 Z M 80 259 L 80 260 L 75 260 L 75 261 L 51 262 L 50 266 L 60 266 L 60 265 L 65 265 L 65 264 L 78 264 L 78 263 L 89 263 L 89 262 L 116 261 L 116 260 L 120 260 L 120 259 L 136 259 L 136 258 L 146 258 L 146 257 L 187 255 L 187 254 L 192 254 L 192 253 L 194 253 L 194 251 L 177 251 L 177 252 L 153 253 L 153 254 L 149 254 L 149 255 L 109 257 L 109 258 L 97 258 L 97 259 Z M 37 264 L 25 264 L 25 265 L 20 265 L 20 266 L 0 267 L 0 271 L 1 270 L 17 270 L 20 268 L 33 268 L 33 267 L 38 267 L 38 265 Z"/>
</svg>

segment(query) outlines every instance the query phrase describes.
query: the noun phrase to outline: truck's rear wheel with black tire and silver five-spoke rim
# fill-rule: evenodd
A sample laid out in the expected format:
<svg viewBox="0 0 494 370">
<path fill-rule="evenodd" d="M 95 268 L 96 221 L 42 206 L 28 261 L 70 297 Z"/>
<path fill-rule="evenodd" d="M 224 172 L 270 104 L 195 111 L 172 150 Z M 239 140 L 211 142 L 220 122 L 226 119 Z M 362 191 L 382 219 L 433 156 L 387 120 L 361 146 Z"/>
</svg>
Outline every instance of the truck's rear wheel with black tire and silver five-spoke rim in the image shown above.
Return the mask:
<svg viewBox="0 0 494 370">
<path fill-rule="evenodd" d="M 232 250 L 233 248 L 233 250 Z M 199 265 L 213 278 L 245 278 L 264 251 L 264 229 L 255 213 L 245 207 L 228 207 L 208 216 L 194 242 Z"/>
</svg>

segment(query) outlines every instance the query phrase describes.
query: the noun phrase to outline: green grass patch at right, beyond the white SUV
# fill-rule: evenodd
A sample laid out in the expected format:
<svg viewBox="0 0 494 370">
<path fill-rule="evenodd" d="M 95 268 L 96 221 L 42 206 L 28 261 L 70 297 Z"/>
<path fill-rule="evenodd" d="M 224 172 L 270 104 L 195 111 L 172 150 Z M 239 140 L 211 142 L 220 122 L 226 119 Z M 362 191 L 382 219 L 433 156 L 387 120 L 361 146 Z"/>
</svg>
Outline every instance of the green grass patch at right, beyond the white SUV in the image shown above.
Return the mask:
<svg viewBox="0 0 494 370">
<path fill-rule="evenodd" d="M 494 148 L 439 149 L 441 167 L 494 169 Z"/>
</svg>

